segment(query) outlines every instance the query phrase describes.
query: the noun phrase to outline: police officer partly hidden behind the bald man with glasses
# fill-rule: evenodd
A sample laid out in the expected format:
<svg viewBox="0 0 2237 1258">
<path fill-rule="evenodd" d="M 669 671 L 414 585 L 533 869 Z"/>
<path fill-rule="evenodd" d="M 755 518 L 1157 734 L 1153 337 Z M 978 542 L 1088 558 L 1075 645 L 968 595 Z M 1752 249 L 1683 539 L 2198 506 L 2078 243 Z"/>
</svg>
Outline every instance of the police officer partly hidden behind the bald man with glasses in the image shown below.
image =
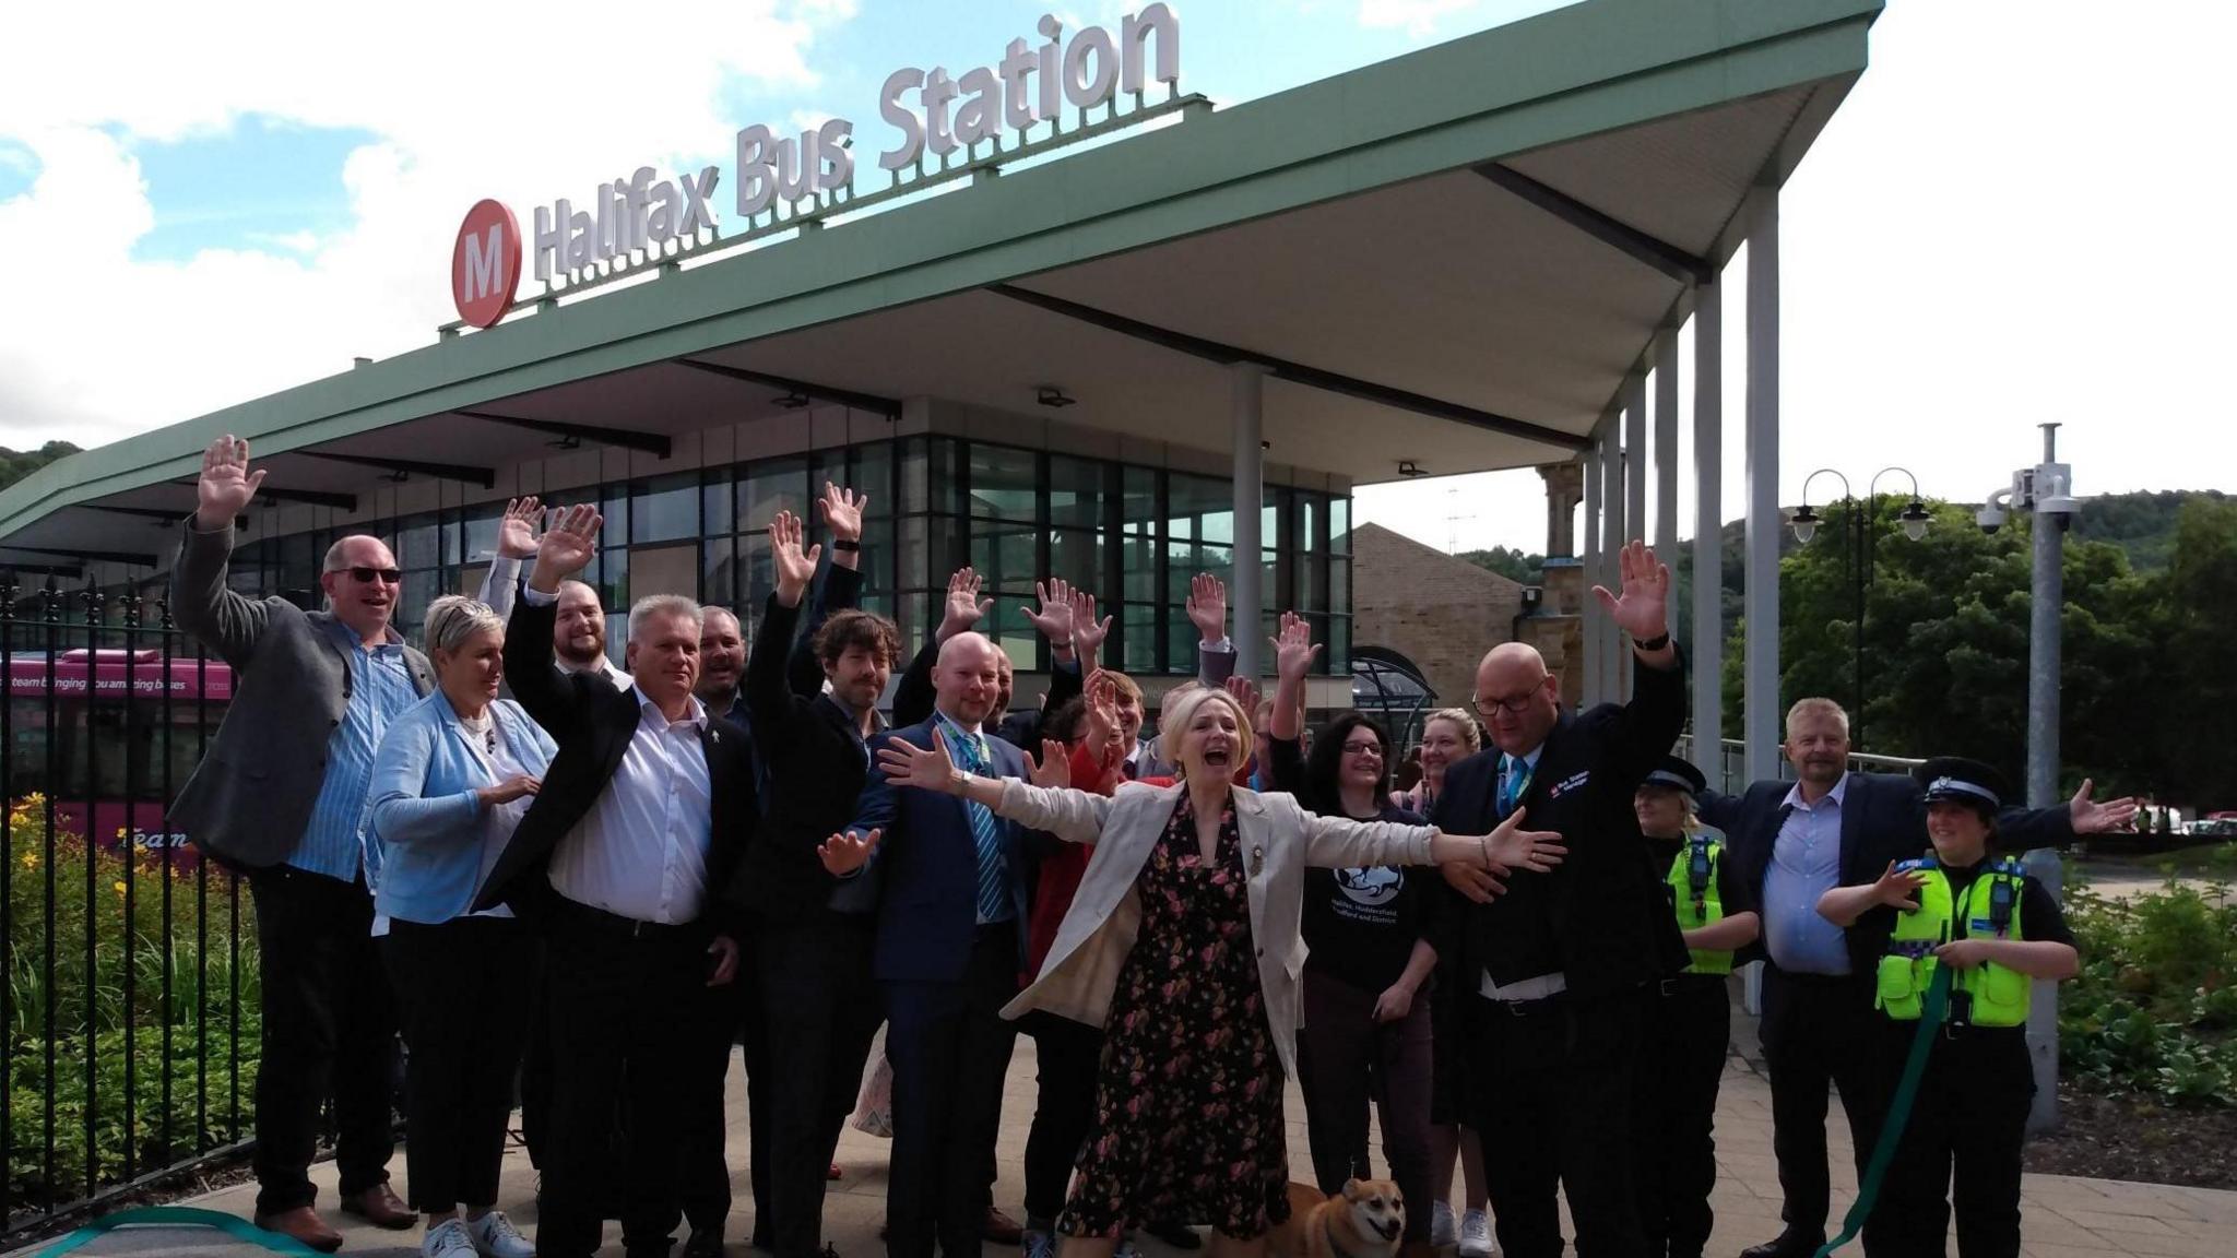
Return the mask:
<svg viewBox="0 0 2237 1258">
<path fill-rule="evenodd" d="M 1725 862 L 1725 835 L 1693 813 L 1705 786 L 1698 768 L 1667 757 L 1633 792 L 1667 911 L 1689 951 L 1684 971 L 1655 985 L 1631 1081 L 1633 1177 L 1649 1258 L 1700 1258 L 1709 1245 L 1716 1088 L 1731 1036 L 1725 976 L 1734 949 L 1758 933 L 1747 880 Z"/>
</svg>

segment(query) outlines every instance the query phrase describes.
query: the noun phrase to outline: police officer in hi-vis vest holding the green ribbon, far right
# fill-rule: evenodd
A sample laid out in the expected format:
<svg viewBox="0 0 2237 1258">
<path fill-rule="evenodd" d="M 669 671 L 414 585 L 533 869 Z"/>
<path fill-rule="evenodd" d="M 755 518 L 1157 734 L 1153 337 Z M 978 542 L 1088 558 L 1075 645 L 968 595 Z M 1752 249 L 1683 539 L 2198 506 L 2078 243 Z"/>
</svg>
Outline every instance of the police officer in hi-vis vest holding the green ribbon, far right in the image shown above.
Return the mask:
<svg viewBox="0 0 2237 1258">
<path fill-rule="evenodd" d="M 1819 900 L 1819 913 L 1841 927 L 1872 913 L 1893 918 L 1877 1001 L 1897 1052 L 1917 1032 L 1935 969 L 1951 967 L 1948 1012 L 1877 1215 L 1890 1256 L 1939 1258 L 1951 1218 L 1944 1189 L 1955 1168 L 1957 1254 L 2016 1258 L 2020 1139 L 2036 1095 L 2029 994 L 2036 978 L 2071 978 L 2080 954 L 2049 891 L 1993 851 L 1995 815 L 2011 795 L 2004 777 L 1960 757 L 1935 757 L 1917 772 L 1933 853 Z"/>
</svg>

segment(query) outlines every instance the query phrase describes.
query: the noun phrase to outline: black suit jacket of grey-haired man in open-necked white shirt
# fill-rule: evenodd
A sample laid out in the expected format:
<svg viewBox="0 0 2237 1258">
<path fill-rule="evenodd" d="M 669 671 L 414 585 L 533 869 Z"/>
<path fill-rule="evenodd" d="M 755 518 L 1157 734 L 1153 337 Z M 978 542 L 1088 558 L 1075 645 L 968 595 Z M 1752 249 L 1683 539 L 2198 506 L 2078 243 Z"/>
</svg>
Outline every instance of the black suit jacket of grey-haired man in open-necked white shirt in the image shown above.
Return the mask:
<svg viewBox="0 0 2237 1258">
<path fill-rule="evenodd" d="M 553 625 L 559 604 L 537 607 L 521 598 L 506 627 L 506 676 L 528 716 L 559 743 L 544 790 L 512 830 L 497 869 L 474 900 L 474 909 L 510 904 L 515 913 L 535 918 L 553 895 L 546 882 L 553 848 L 575 828 L 597 801 L 629 752 L 642 712 L 638 692 L 615 689 L 597 674 L 566 674 L 553 665 Z M 745 848 L 761 815 L 754 797 L 754 757 L 745 730 L 709 719 L 700 734 L 707 752 L 707 781 L 714 788 L 707 848 L 707 895 L 700 900 L 700 924 L 714 933 L 738 927 L 736 911 L 725 907 L 720 889 L 729 884 L 738 853 Z"/>
</svg>

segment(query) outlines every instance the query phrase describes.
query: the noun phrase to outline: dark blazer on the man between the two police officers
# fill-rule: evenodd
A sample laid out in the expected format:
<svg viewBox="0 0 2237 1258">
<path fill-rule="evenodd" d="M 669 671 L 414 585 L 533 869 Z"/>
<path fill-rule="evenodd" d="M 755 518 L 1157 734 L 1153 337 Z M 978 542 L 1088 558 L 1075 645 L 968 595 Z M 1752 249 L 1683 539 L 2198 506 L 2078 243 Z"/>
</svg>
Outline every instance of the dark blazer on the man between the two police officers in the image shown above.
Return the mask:
<svg viewBox="0 0 2237 1258">
<path fill-rule="evenodd" d="M 1792 781 L 1756 781 L 1740 795 L 1702 792 L 1696 801 L 1702 822 L 1725 830 L 1727 860 L 1747 880 L 1747 895 L 1763 904 L 1763 875 L 1785 826 Z M 1998 839 L 2011 848 L 2042 848 L 2074 842 L 2074 819 L 2067 808 L 2004 808 L 1995 819 Z M 1877 880 L 1890 862 L 1933 851 L 1926 837 L 1926 792 L 1917 779 L 1899 772 L 1852 772 L 1841 788 L 1841 886 Z M 1810 904 L 1807 911 L 1816 911 Z M 1870 974 L 1888 951 L 1890 913 L 1866 913 L 1848 929 L 1850 974 Z M 1769 960 L 1758 940 L 1738 960 Z"/>
</svg>

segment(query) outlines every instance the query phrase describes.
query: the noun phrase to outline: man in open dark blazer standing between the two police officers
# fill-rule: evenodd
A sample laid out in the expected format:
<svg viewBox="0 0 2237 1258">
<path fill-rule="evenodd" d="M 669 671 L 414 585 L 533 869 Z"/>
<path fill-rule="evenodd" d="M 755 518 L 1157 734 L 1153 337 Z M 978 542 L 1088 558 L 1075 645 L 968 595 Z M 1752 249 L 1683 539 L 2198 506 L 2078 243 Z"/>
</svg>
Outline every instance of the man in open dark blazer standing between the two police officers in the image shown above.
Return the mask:
<svg viewBox="0 0 2237 1258">
<path fill-rule="evenodd" d="M 1926 797 L 1908 774 L 1848 772 L 1848 712 L 1830 698 L 1787 710 L 1787 763 L 1799 781 L 1756 781 L 1740 795 L 1707 792 L 1700 817 L 1725 830 L 1734 871 L 1763 907 L 1763 1061 L 1772 1077 L 1772 1151 L 1785 1195 L 1785 1229 L 1743 1258 L 1807 1258 L 1825 1240 L 1825 1083 L 1857 1146 L 1857 1175 L 1872 1157 L 1886 1110 L 1890 1063 L 1875 1048 L 1879 1014 L 1872 974 L 1888 949 L 1886 913 L 1843 931 L 1819 916 L 1819 895 L 1872 882 L 1899 860 L 1931 851 Z M 1998 844 L 2007 851 L 2063 846 L 2078 833 L 2112 830 L 2134 801 L 2089 801 L 2089 783 L 2058 808 L 2007 808 Z M 1875 1222 L 1866 1254 L 1881 1251 Z"/>
</svg>

